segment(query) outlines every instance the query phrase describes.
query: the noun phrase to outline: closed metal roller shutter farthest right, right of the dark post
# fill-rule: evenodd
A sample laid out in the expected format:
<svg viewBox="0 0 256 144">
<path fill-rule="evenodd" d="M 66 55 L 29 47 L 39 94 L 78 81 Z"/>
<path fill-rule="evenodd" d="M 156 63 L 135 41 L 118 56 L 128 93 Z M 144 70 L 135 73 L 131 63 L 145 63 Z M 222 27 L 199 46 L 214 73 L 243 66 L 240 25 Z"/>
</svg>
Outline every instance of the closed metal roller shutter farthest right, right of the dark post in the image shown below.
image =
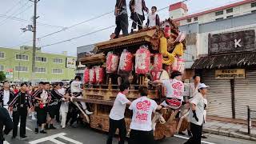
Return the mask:
<svg viewBox="0 0 256 144">
<path fill-rule="evenodd" d="M 256 110 L 256 70 L 246 70 L 246 79 L 234 80 L 235 118 L 247 119 L 247 107 Z"/>
</svg>

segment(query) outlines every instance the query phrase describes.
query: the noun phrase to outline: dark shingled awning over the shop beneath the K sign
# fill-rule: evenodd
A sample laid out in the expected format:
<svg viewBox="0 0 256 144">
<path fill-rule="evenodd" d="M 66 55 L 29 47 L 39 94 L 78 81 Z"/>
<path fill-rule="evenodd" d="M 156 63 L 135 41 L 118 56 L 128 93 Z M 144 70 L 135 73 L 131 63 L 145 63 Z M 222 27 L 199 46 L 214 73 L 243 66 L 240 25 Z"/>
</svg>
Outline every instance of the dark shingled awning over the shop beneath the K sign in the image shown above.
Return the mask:
<svg viewBox="0 0 256 144">
<path fill-rule="evenodd" d="M 256 52 L 202 57 L 194 62 L 192 69 L 220 69 L 231 66 L 256 66 Z"/>
</svg>

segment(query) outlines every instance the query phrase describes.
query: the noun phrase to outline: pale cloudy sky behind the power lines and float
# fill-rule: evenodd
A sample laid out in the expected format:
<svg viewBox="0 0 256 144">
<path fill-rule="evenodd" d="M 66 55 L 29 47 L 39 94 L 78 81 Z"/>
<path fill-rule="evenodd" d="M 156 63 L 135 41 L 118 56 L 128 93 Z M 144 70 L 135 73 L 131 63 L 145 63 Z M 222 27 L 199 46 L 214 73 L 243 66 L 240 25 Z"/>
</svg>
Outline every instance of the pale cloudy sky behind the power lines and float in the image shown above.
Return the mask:
<svg viewBox="0 0 256 144">
<path fill-rule="evenodd" d="M 147 7 L 157 6 L 158 10 L 180 1 L 181 0 L 145 0 Z M 242 0 L 188 0 L 186 5 L 188 6 L 189 13 L 193 14 L 237 1 Z M 115 25 L 114 14 L 106 14 L 114 10 L 115 2 L 115 0 L 40 0 L 40 2 L 38 2 L 37 11 L 39 16 L 37 19 L 37 46 L 43 46 L 42 51 L 46 53 L 61 54 L 62 51 L 67 51 L 69 55 L 76 56 L 77 47 L 79 46 L 107 41 L 110 39 L 110 34 L 114 32 L 114 27 L 107 30 L 101 29 Z M 129 0 L 126 0 L 126 3 L 128 4 Z M 33 33 L 30 31 L 22 32 L 21 28 L 32 24 L 31 18 L 33 14 L 33 2 L 29 0 L 0 0 L 0 47 L 18 49 L 21 44 L 32 46 L 31 40 Z M 84 22 L 102 14 L 106 15 L 102 18 Z M 161 10 L 158 14 L 161 19 L 166 19 L 169 16 L 169 9 Z M 25 19 L 28 22 L 10 19 L 13 17 Z M 66 29 L 66 27 L 73 26 L 80 22 L 84 23 L 63 30 Z M 58 30 L 63 31 L 52 34 L 46 38 L 40 38 Z M 101 31 L 90 34 L 95 30 Z M 89 35 L 58 45 L 48 46 L 52 43 L 62 42 L 84 34 Z"/>
</svg>

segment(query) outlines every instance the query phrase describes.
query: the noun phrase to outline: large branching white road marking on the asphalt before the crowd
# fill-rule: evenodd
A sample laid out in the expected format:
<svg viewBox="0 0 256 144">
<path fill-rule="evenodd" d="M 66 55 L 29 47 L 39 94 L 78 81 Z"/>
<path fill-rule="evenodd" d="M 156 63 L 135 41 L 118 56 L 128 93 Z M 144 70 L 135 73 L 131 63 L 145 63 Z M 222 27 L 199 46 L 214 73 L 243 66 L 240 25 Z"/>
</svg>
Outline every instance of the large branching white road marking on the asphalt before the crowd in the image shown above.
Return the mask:
<svg viewBox="0 0 256 144">
<path fill-rule="evenodd" d="M 49 137 L 37 139 L 37 140 L 29 142 L 29 143 L 30 144 L 37 144 L 37 143 L 41 143 L 41 142 L 50 141 L 50 142 L 54 142 L 56 144 L 66 144 L 64 142 L 61 142 L 61 141 L 58 141 L 57 139 L 55 139 L 55 138 L 62 138 L 64 140 L 68 141 L 69 143 L 72 142 L 74 144 L 82 144 L 82 142 L 78 142 L 78 141 L 75 141 L 74 139 L 67 138 L 64 135 L 66 135 L 66 133 L 54 134 L 54 135 L 51 135 Z"/>
</svg>

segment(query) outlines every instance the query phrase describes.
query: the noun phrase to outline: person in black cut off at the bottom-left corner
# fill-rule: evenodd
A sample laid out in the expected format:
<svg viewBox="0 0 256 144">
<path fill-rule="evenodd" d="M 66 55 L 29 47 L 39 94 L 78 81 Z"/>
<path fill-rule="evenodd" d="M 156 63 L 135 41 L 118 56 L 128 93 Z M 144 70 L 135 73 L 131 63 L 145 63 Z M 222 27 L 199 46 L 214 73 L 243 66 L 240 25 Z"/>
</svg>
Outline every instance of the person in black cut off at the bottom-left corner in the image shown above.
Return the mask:
<svg viewBox="0 0 256 144">
<path fill-rule="evenodd" d="M 3 144 L 5 141 L 2 134 L 3 126 L 5 126 L 5 130 L 3 131 L 4 134 L 9 134 L 10 130 L 13 129 L 14 124 L 11 121 L 8 111 L 5 108 L 0 107 L 0 144 Z"/>
</svg>

